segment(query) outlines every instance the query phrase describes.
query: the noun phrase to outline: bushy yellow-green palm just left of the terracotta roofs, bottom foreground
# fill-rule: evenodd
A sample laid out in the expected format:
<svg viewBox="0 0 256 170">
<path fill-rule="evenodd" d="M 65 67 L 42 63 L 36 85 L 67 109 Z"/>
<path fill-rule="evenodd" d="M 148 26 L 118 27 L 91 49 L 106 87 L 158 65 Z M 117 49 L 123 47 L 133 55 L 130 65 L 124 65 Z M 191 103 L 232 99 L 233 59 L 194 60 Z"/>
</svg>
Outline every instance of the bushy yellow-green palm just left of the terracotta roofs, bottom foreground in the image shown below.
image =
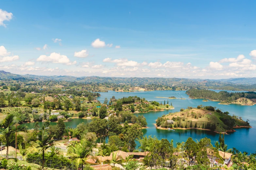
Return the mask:
<svg viewBox="0 0 256 170">
<path fill-rule="evenodd" d="M 83 170 L 83 164 L 85 164 L 89 156 L 92 155 L 93 148 L 95 147 L 96 145 L 88 141 L 86 138 L 81 139 L 81 141 L 75 145 L 68 146 L 70 149 L 68 151 L 68 155 L 75 160 L 77 169 L 79 165 L 82 165 Z"/>
</svg>

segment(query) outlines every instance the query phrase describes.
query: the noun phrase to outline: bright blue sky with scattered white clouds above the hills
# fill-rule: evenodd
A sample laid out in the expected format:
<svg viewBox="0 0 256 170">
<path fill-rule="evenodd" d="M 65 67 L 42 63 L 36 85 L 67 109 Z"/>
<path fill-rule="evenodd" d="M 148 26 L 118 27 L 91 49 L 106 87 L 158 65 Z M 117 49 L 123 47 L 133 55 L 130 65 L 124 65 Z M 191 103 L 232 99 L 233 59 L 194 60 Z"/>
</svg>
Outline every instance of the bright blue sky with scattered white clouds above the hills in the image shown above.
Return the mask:
<svg viewBox="0 0 256 170">
<path fill-rule="evenodd" d="M 256 77 L 256 1 L 1 1 L 0 70 Z"/>
</svg>

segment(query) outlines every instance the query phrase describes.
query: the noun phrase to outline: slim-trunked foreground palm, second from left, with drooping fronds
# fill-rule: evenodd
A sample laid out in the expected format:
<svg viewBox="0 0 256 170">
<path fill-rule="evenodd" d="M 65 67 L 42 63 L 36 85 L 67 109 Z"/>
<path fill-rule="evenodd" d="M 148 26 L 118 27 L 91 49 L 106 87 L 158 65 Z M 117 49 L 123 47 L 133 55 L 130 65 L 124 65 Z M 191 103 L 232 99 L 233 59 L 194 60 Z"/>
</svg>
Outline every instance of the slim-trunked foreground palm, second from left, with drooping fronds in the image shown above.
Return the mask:
<svg viewBox="0 0 256 170">
<path fill-rule="evenodd" d="M 42 152 L 42 169 L 44 169 L 44 152 L 46 151 L 46 149 L 56 145 L 54 144 L 53 137 L 54 135 L 51 135 L 47 131 L 45 131 L 43 126 L 42 129 L 37 133 L 36 143 L 28 149 L 28 153 Z"/>
</svg>

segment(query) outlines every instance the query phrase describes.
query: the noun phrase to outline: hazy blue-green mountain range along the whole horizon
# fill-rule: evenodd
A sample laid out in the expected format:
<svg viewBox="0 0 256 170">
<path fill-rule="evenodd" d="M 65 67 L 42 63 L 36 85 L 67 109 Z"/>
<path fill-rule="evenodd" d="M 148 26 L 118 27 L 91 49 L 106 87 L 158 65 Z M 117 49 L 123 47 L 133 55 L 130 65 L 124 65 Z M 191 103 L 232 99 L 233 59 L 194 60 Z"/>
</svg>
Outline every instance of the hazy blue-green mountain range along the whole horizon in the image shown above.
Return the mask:
<svg viewBox="0 0 256 170">
<path fill-rule="evenodd" d="M 193 83 L 202 83 L 202 84 L 214 84 L 218 82 L 222 85 L 253 85 L 256 84 L 256 78 L 228 78 L 228 79 L 199 79 L 199 78 L 117 78 L 117 77 L 74 77 L 74 76 L 37 76 L 37 75 L 18 75 L 12 74 L 6 71 L 0 71 L 0 79 L 17 79 L 17 78 L 32 78 L 38 80 L 56 80 L 56 81 L 77 81 L 77 82 L 86 82 L 86 83 L 116 83 L 116 84 L 126 84 L 131 85 L 143 85 L 143 84 L 162 84 L 162 85 L 171 85 L 171 84 L 193 84 Z"/>
</svg>

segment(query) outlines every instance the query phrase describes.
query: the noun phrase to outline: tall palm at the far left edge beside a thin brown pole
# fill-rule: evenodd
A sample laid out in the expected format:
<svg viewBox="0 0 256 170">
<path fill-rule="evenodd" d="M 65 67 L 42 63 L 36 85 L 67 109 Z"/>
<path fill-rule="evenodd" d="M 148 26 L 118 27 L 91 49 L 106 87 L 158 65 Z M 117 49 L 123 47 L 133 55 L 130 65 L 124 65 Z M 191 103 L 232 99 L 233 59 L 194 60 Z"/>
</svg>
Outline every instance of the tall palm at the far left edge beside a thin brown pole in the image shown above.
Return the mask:
<svg viewBox="0 0 256 170">
<path fill-rule="evenodd" d="M 8 153 L 9 153 L 9 146 L 10 141 L 9 137 L 12 134 L 15 134 L 16 132 L 27 132 L 28 127 L 24 125 L 19 125 L 16 127 L 16 124 L 18 124 L 19 118 L 15 114 L 9 114 L 1 123 L 0 123 L 0 137 L 4 138 L 6 141 L 6 159 L 8 160 Z M 4 128 L 2 128 L 4 127 Z"/>
</svg>

